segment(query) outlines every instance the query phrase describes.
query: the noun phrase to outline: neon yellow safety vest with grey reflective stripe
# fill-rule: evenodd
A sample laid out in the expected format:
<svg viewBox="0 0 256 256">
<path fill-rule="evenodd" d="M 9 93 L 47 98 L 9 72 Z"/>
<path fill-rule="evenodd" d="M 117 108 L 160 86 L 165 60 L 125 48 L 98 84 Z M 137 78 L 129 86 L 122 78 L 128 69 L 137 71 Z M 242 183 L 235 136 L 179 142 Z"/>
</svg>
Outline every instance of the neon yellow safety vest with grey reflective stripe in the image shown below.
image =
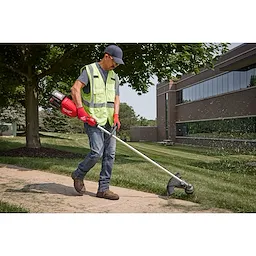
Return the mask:
<svg viewBox="0 0 256 256">
<path fill-rule="evenodd" d="M 81 72 L 84 68 L 86 68 L 90 82 L 90 93 L 84 93 L 83 89 L 81 90 L 83 107 L 99 125 L 103 126 L 108 121 L 112 126 L 114 123 L 116 73 L 113 70 L 108 71 L 105 83 L 96 63 L 86 65 Z"/>
</svg>

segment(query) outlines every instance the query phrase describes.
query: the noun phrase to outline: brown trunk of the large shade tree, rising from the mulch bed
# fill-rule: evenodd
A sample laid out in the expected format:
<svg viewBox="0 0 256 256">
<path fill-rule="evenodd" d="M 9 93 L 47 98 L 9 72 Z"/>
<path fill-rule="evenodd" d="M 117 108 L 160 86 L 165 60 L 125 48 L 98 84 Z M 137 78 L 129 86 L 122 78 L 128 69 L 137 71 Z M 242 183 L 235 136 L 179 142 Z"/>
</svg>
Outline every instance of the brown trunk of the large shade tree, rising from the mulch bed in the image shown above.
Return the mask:
<svg viewBox="0 0 256 256">
<path fill-rule="evenodd" d="M 26 95 L 26 147 L 40 148 L 39 117 L 38 117 L 38 81 L 28 79 L 25 86 Z"/>
</svg>

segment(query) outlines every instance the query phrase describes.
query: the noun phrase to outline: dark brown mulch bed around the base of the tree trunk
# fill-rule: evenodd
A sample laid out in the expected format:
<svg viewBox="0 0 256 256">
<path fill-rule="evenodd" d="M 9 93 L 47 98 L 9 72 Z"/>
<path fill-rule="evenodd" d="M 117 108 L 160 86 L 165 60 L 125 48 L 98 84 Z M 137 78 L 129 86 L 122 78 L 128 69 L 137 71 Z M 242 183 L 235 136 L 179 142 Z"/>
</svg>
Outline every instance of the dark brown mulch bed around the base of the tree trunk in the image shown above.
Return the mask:
<svg viewBox="0 0 256 256">
<path fill-rule="evenodd" d="M 81 158 L 82 154 L 62 151 L 54 148 L 15 148 L 7 151 L 0 151 L 0 156 L 12 157 L 50 157 L 50 158 Z"/>
</svg>

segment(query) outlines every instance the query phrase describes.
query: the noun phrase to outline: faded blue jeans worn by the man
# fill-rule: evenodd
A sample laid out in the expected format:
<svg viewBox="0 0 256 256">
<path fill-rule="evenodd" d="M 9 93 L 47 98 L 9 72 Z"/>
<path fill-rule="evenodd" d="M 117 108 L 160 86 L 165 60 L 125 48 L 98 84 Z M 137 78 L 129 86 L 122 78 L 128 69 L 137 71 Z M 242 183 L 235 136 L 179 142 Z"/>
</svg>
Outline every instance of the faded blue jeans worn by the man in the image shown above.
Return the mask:
<svg viewBox="0 0 256 256">
<path fill-rule="evenodd" d="M 78 179 L 84 179 L 85 175 L 94 167 L 99 159 L 102 158 L 98 191 L 103 192 L 109 189 L 116 153 L 116 139 L 102 132 L 97 127 L 92 127 L 86 123 L 84 127 L 89 138 L 90 152 L 78 165 L 74 174 Z M 112 127 L 108 123 L 102 127 L 110 132 L 112 130 Z"/>
</svg>

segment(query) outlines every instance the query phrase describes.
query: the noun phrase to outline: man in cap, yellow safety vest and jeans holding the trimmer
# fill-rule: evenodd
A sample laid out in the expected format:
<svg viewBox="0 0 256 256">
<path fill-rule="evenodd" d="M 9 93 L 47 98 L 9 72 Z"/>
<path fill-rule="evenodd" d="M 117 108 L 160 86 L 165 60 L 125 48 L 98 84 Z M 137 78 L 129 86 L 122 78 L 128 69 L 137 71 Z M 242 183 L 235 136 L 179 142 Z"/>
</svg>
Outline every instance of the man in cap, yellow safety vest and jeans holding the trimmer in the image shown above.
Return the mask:
<svg viewBox="0 0 256 256">
<path fill-rule="evenodd" d="M 84 122 L 90 142 L 90 152 L 72 172 L 74 187 L 82 195 L 85 192 L 84 177 L 102 158 L 102 166 L 96 196 L 118 200 L 119 196 L 109 190 L 116 140 L 103 133 L 97 124 L 108 131 L 114 126 L 120 129 L 119 121 L 119 80 L 113 71 L 119 64 L 124 64 L 123 52 L 116 45 L 108 46 L 100 62 L 86 65 L 81 75 L 71 88 L 72 99 L 77 107 L 77 116 Z"/>
</svg>

